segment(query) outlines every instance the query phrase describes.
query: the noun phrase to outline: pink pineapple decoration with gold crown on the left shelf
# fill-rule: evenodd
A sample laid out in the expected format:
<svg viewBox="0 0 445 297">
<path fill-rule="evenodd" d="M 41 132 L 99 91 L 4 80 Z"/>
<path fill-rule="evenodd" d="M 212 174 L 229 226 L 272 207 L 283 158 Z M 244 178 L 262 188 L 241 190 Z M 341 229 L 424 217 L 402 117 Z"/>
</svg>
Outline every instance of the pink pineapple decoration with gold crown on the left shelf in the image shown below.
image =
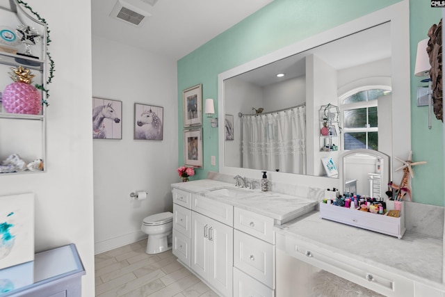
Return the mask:
<svg viewBox="0 0 445 297">
<path fill-rule="evenodd" d="M 42 109 L 42 95 L 32 86 L 33 77 L 29 69 L 22 66 L 11 67 L 10 77 L 13 83 L 3 91 L 3 107 L 8 113 L 25 113 L 38 115 Z"/>
</svg>

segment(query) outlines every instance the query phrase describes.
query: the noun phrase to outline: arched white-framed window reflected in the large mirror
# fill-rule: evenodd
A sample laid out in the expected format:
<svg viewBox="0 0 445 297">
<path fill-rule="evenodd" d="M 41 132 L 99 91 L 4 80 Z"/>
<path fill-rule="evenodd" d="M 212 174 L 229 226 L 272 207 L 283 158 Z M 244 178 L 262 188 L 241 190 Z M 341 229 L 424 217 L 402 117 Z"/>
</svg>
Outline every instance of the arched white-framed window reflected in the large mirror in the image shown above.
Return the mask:
<svg viewBox="0 0 445 297">
<path fill-rule="evenodd" d="M 339 98 L 343 150 L 378 150 L 378 97 L 391 93 L 387 86 L 365 86 Z"/>
</svg>

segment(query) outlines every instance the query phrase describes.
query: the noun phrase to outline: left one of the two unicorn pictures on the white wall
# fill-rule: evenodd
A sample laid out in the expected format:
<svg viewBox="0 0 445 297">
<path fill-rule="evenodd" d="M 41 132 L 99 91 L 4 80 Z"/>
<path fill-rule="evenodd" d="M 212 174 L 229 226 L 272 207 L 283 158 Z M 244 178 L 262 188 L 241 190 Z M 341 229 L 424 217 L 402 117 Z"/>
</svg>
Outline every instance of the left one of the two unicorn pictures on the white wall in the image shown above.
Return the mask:
<svg viewBox="0 0 445 297">
<path fill-rule="evenodd" d="M 122 101 L 92 98 L 92 138 L 122 139 Z"/>
</svg>

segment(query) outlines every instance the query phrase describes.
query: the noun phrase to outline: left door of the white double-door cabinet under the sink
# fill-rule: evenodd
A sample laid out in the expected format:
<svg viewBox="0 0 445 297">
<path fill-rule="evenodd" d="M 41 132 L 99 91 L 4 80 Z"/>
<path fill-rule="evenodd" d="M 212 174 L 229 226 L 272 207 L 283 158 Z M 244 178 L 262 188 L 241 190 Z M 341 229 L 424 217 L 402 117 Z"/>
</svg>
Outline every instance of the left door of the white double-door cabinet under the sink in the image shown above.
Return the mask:
<svg viewBox="0 0 445 297">
<path fill-rule="evenodd" d="M 192 211 L 191 268 L 209 279 L 209 224 L 211 219 Z"/>
</svg>

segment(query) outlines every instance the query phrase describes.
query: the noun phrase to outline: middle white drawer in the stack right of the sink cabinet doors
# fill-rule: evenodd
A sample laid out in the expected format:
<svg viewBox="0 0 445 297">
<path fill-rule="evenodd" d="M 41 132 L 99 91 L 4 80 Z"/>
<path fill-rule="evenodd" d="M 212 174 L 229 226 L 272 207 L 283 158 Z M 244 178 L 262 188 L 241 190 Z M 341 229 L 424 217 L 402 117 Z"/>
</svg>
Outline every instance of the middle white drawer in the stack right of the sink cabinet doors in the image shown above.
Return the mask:
<svg viewBox="0 0 445 297">
<path fill-rule="evenodd" d="M 234 266 L 275 289 L 275 246 L 234 230 Z"/>
</svg>

